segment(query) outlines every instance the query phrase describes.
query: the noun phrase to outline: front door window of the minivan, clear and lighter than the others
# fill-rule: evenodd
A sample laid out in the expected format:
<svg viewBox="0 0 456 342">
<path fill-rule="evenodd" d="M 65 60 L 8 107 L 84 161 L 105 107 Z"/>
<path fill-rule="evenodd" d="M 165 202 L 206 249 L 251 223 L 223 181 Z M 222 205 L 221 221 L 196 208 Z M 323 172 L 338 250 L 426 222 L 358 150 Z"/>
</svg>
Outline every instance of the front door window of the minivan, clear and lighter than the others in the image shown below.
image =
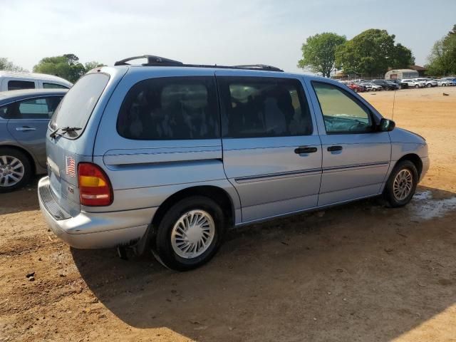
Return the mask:
<svg viewBox="0 0 456 342">
<path fill-rule="evenodd" d="M 326 133 L 368 133 L 373 130 L 369 111 L 341 88 L 312 82 L 326 127 Z"/>
</svg>

